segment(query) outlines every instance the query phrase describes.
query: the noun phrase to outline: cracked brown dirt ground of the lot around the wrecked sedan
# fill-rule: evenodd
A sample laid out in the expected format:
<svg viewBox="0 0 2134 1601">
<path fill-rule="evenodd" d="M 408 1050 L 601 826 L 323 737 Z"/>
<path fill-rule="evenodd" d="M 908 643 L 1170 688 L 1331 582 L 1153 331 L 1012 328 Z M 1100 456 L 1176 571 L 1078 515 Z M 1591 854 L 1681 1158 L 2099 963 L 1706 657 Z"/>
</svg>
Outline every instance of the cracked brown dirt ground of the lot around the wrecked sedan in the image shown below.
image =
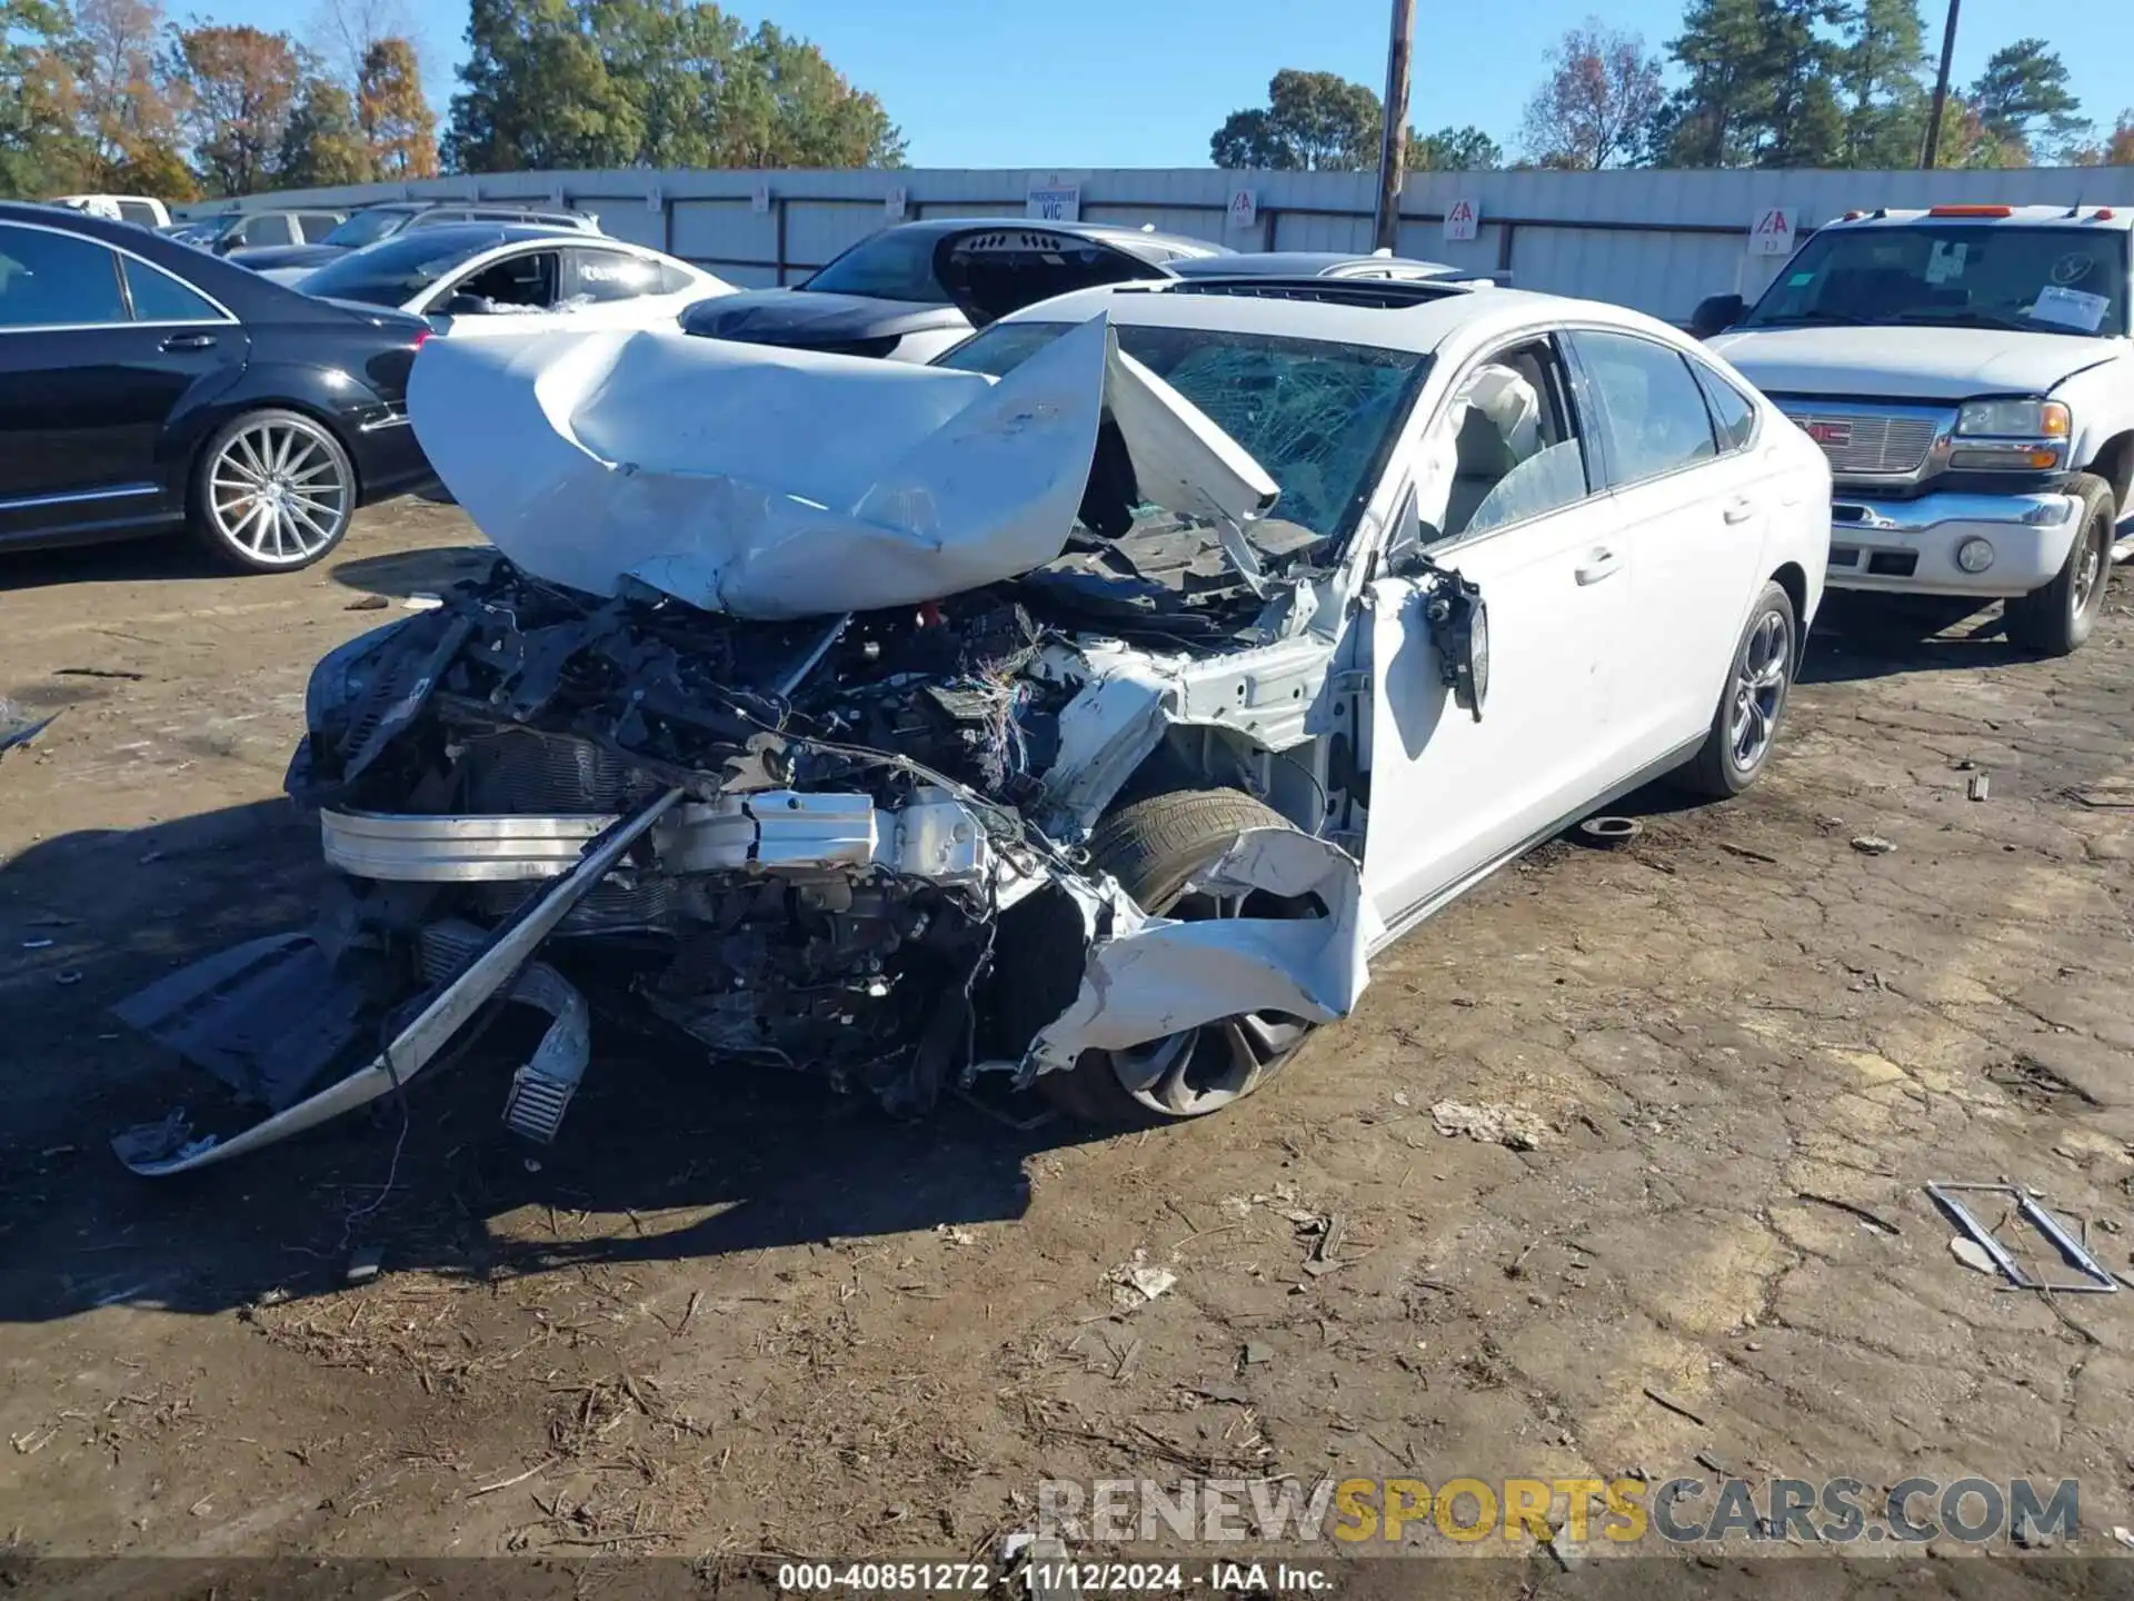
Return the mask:
<svg viewBox="0 0 2134 1601">
<path fill-rule="evenodd" d="M 0 694 L 62 711 L 0 760 L 17 1554 L 984 1554 L 1041 1477 L 1193 1471 L 2076 1477 L 2074 1550 L 2134 1524 L 2134 1296 L 2004 1291 L 1921 1193 L 2036 1185 L 2130 1272 L 2134 574 L 2068 662 L 1818 628 L 1756 792 L 1500 873 L 1199 1125 L 898 1125 L 615 1042 L 540 1161 L 491 1055 L 397 1155 L 388 1108 L 134 1180 L 105 1138 L 205 1080 L 105 1008 L 309 918 L 307 668 L 469 538 L 0 568 Z"/>
</svg>

